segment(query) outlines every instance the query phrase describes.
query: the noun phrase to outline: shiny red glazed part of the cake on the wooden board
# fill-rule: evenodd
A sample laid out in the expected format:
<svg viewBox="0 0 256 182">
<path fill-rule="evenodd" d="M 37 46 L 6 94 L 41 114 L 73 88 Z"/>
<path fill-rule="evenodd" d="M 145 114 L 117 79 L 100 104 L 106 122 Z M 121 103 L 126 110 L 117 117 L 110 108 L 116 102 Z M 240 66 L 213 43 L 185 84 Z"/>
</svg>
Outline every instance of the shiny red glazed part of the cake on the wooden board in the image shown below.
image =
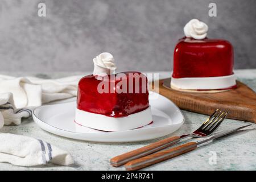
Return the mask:
<svg viewBox="0 0 256 182">
<path fill-rule="evenodd" d="M 174 49 L 172 77 L 228 76 L 233 62 L 233 47 L 226 40 L 182 38 Z"/>
</svg>

